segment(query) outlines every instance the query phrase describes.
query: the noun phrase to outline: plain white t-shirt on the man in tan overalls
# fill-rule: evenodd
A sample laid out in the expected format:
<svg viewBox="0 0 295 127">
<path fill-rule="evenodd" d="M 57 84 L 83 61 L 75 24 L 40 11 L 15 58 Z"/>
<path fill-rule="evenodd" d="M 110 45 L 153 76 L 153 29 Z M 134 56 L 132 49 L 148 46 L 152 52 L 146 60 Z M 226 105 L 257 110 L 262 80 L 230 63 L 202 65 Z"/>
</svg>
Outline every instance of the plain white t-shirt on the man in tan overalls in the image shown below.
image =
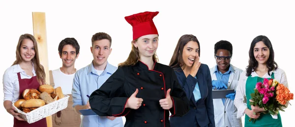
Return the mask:
<svg viewBox="0 0 295 127">
<path fill-rule="evenodd" d="M 60 71 L 60 68 L 52 71 L 54 88 L 61 87 L 62 93 L 65 95 L 72 94 L 73 80 L 75 73 L 65 74 Z"/>
</svg>

